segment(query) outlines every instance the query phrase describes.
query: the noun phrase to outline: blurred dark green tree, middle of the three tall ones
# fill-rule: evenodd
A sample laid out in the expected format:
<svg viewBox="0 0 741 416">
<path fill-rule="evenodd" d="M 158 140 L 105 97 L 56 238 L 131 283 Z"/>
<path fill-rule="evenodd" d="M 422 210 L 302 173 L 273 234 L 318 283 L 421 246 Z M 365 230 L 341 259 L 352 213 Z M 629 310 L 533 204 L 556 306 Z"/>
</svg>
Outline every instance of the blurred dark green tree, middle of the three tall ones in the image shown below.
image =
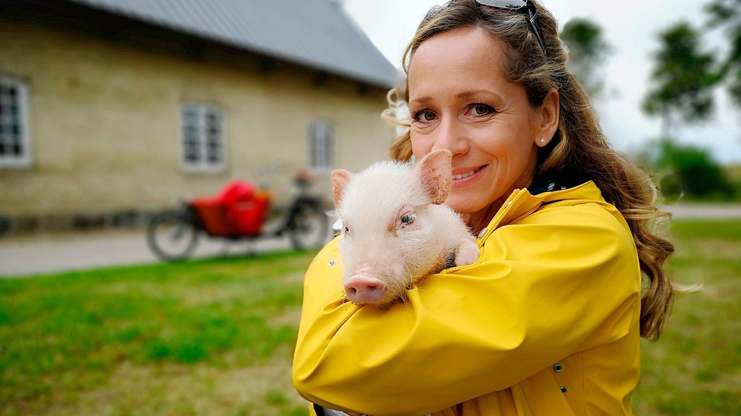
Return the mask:
<svg viewBox="0 0 741 416">
<path fill-rule="evenodd" d="M 697 122 L 712 115 L 719 74 L 714 54 L 701 50 L 700 33 L 690 24 L 674 24 L 660 34 L 660 39 L 661 48 L 655 55 L 657 67 L 651 73 L 652 87 L 643 110 L 662 118 L 662 137 L 667 138 L 674 118 Z"/>
</svg>

